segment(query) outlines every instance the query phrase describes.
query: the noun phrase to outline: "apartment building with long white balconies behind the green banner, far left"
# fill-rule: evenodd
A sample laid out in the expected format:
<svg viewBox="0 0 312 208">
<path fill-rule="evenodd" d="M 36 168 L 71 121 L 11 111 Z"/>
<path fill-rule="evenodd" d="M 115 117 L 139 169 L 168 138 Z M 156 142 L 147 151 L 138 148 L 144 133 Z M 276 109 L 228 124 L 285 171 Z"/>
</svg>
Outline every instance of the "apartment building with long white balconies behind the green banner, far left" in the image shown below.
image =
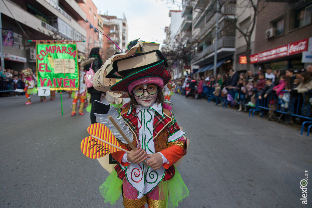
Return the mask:
<svg viewBox="0 0 312 208">
<path fill-rule="evenodd" d="M 27 42 L 28 39 L 85 40 L 86 30 L 78 21 L 85 21 L 86 15 L 78 3 L 85 3 L 85 0 L 0 1 L 2 29 L 13 32 L 14 36 L 12 46 L 3 46 L 5 68 L 21 71 L 29 67 L 35 71 L 35 44 Z M 77 42 L 79 52 L 84 52 L 85 48 L 84 42 Z"/>
</svg>

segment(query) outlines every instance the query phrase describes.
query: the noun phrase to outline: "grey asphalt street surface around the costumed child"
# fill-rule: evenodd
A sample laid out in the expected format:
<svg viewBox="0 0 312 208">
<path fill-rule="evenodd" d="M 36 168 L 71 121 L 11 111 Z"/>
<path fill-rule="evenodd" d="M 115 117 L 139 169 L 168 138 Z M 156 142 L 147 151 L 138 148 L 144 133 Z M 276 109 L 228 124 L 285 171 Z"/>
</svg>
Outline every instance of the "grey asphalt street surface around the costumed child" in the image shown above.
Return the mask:
<svg viewBox="0 0 312 208">
<path fill-rule="evenodd" d="M 55 101 L 25 101 L 0 98 L 0 207 L 123 207 L 122 200 L 104 203 L 98 188 L 109 174 L 80 151 L 89 113 L 70 116 L 65 93 L 63 116 L 59 94 Z M 309 204 L 300 200 L 305 170 L 312 178 L 311 137 L 206 100 L 174 94 L 172 103 L 191 141 L 178 166 L 189 196 L 178 207 L 311 207 L 310 183 Z"/>
</svg>

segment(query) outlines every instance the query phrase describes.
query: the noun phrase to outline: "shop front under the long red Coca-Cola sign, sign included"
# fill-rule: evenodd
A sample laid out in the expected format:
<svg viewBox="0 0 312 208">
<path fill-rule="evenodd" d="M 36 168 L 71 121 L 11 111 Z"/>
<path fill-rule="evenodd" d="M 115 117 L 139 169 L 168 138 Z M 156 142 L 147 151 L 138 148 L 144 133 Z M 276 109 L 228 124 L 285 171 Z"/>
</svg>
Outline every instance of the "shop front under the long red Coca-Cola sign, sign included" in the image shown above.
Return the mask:
<svg viewBox="0 0 312 208">
<path fill-rule="evenodd" d="M 253 54 L 250 63 L 262 69 L 287 70 L 304 68 L 302 53 L 308 50 L 309 38 Z"/>
</svg>

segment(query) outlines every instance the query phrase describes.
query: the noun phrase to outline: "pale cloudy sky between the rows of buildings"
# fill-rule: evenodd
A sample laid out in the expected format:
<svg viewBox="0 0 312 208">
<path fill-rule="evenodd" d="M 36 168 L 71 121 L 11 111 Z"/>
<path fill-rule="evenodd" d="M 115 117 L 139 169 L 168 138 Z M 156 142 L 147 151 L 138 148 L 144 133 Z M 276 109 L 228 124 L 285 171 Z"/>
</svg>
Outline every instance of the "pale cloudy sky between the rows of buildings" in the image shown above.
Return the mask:
<svg viewBox="0 0 312 208">
<path fill-rule="evenodd" d="M 92 0 L 97 12 L 122 18 L 128 23 L 128 41 L 140 38 L 143 41 L 163 43 L 164 29 L 170 25 L 169 10 L 179 10 L 178 5 L 161 0 Z M 180 7 L 182 10 L 182 6 Z"/>
</svg>

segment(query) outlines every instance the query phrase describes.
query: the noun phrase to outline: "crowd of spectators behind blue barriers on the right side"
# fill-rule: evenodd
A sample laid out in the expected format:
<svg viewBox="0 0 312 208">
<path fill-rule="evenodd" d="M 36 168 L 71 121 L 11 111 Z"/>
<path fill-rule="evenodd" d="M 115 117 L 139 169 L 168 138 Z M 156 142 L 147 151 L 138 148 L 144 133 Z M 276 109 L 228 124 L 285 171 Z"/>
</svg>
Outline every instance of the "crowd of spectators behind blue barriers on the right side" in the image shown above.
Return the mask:
<svg viewBox="0 0 312 208">
<path fill-rule="evenodd" d="M 297 99 L 299 94 L 307 94 L 307 92 L 312 94 L 312 65 L 302 70 L 287 69 L 273 71 L 271 68 L 265 70 L 260 69 L 255 74 L 251 71 L 239 73 L 231 69 L 229 73 L 217 74 L 216 76 L 199 78 L 185 76 L 175 79 L 174 82 L 174 92 L 182 94 L 187 98 L 207 98 L 208 91 L 212 89 L 215 105 L 222 104 L 220 103 L 221 98 L 223 100 L 229 100 L 228 92 L 235 90 L 235 96 L 232 97 L 232 94 L 230 99 L 234 102 L 237 100 L 241 101 L 236 102 L 238 111 L 241 111 L 243 106 L 245 107 L 245 111 L 248 106 L 255 107 L 257 99 L 260 102 L 263 99 L 270 99 L 270 97 L 271 100 L 268 102 L 270 103 L 269 107 L 273 108 L 271 107 L 273 105 L 275 106 L 275 103 L 272 103 L 273 95 L 276 96 L 276 102 L 282 107 L 282 110 L 291 114 L 294 113 L 294 106 L 302 102 L 302 100 Z M 306 99 L 305 102 L 307 100 L 309 99 Z M 312 114 L 312 108 L 310 107 L 312 105 L 312 98 L 310 102 L 311 104 L 309 104 L 308 108 L 310 108 L 309 114 Z M 305 105 L 303 104 L 303 106 Z M 274 110 L 276 110 L 276 107 L 272 111 L 268 111 L 269 118 L 273 120 Z M 300 111 L 304 111 L 304 109 L 300 109 Z M 303 116 L 311 117 L 312 115 Z M 289 124 L 290 122 L 290 116 L 285 116 L 285 123 Z"/>
</svg>

